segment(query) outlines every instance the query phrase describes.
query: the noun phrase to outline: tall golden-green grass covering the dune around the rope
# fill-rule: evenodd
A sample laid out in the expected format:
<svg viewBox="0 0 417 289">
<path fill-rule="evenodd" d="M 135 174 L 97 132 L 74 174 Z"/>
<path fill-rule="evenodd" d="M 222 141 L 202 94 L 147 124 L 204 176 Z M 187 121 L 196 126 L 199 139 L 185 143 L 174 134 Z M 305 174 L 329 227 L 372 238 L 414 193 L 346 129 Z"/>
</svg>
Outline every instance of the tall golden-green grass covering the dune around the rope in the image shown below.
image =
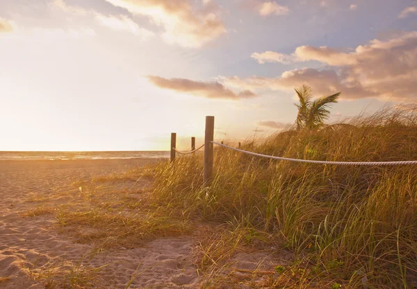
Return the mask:
<svg viewBox="0 0 417 289">
<path fill-rule="evenodd" d="M 288 130 L 243 149 L 327 161 L 417 160 L 417 110 Z M 306 287 L 336 279 L 350 288 L 407 288 L 415 279 L 416 166 L 298 164 L 225 148 L 216 148 L 214 164 L 208 187 L 201 156 L 159 164 L 154 197 L 187 216 L 268 233 L 306 261 Z"/>
</svg>

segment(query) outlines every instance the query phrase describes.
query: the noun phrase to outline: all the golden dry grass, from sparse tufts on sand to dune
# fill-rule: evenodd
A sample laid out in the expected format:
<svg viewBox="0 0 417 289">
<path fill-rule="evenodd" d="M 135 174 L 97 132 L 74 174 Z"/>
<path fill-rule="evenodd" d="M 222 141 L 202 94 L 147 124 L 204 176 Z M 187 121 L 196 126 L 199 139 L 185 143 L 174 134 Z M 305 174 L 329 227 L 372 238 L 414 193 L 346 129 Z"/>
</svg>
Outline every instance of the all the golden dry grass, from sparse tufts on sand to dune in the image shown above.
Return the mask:
<svg viewBox="0 0 417 289">
<path fill-rule="evenodd" d="M 328 161 L 416 160 L 417 111 L 382 110 L 321 130 L 281 132 L 258 143 L 243 148 Z M 57 195 L 68 203 L 55 210 L 57 224 L 98 252 L 188 234 L 204 221 L 211 230 L 202 231 L 195 261 L 204 277 L 202 288 L 417 284 L 415 166 L 297 164 L 217 148 L 210 186 L 203 186 L 202 173 L 203 158 L 194 155 L 76 183 L 75 194 Z M 44 208 L 28 213 L 36 216 Z M 234 255 L 250 249 L 268 249 L 277 257 L 292 254 L 275 269 L 236 268 Z M 89 288 L 87 273 L 85 279 L 77 277 L 80 285 L 74 288 Z M 58 276 L 68 280 L 71 274 Z"/>
</svg>

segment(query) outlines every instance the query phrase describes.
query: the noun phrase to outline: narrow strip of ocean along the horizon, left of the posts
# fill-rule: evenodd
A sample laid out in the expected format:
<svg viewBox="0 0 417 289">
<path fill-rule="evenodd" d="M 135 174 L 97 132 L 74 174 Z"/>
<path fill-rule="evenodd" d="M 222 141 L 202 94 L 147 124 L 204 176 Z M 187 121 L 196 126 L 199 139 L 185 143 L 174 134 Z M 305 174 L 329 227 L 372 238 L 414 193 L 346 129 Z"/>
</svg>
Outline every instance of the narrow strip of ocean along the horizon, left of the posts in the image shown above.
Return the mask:
<svg viewBox="0 0 417 289">
<path fill-rule="evenodd" d="M 170 157 L 169 151 L 123 152 L 0 152 L 1 160 L 70 160 L 70 159 L 159 159 Z"/>
</svg>

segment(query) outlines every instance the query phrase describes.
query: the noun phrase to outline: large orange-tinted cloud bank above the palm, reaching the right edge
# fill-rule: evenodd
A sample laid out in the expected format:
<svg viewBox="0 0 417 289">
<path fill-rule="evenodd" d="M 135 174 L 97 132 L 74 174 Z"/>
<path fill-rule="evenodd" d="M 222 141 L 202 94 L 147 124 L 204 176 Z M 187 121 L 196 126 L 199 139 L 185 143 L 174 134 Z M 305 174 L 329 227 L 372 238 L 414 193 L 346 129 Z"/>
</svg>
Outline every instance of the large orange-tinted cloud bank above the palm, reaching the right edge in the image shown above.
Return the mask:
<svg viewBox="0 0 417 289">
<path fill-rule="evenodd" d="M 287 56 L 279 57 L 295 62 L 316 60 L 327 67 L 295 69 L 277 78 L 235 77 L 222 81 L 252 90 L 285 90 L 306 84 L 318 94 L 342 91 L 341 97 L 345 99 L 417 97 L 417 31 L 399 33 L 391 40 L 372 40 L 348 53 L 326 46 L 300 46 Z M 268 58 L 261 60 L 272 62 Z"/>
</svg>

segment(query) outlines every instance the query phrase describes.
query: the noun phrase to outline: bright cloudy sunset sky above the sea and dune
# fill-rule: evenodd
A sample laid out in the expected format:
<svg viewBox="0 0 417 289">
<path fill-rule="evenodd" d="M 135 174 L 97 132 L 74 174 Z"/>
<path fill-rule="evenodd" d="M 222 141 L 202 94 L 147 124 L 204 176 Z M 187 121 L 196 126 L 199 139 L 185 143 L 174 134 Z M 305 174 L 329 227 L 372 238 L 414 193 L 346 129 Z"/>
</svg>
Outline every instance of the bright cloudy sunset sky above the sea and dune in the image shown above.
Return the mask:
<svg viewBox="0 0 417 289">
<path fill-rule="evenodd" d="M 415 0 L 0 0 L 0 150 L 169 150 L 417 98 Z"/>
</svg>

